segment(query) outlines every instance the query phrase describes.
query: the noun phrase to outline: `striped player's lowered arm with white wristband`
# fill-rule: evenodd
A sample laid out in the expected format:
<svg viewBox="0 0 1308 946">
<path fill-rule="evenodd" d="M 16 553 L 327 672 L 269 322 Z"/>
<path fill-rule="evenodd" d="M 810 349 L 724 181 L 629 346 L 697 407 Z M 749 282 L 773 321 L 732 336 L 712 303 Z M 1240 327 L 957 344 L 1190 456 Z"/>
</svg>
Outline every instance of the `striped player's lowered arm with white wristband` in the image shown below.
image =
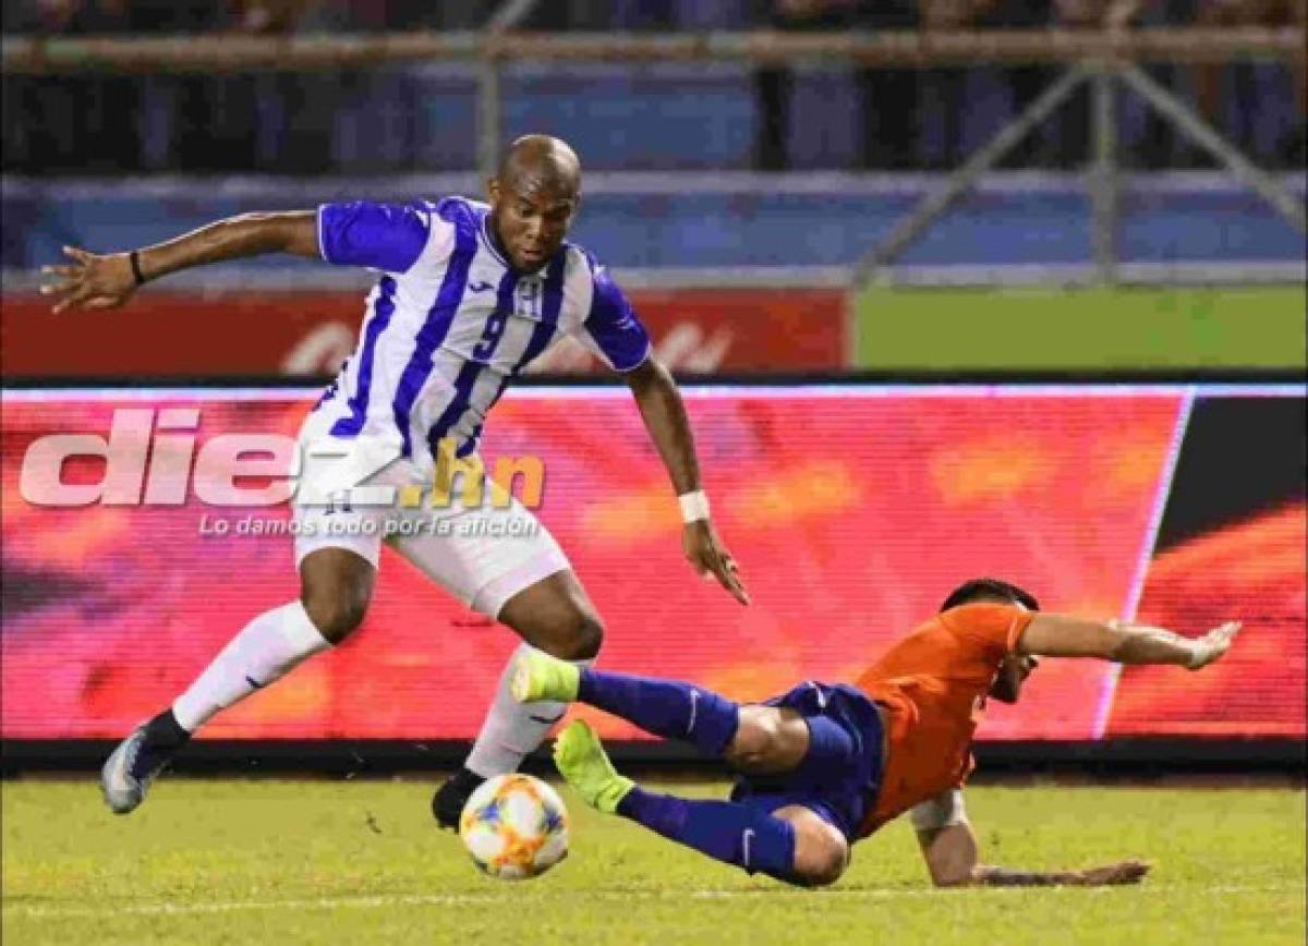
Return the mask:
<svg viewBox="0 0 1308 946">
<path fill-rule="evenodd" d="M 695 455 L 695 437 L 691 434 L 691 421 L 685 416 L 681 393 L 668 370 L 654 357 L 623 376 L 641 411 L 645 429 L 649 430 L 654 446 L 658 447 L 663 466 L 672 478 L 678 496 L 688 497 L 689 505 L 702 505 L 692 510 L 681 530 L 681 551 L 695 569 L 718 582 L 742 604 L 749 603 L 749 593 L 740 581 L 740 569 L 735 559 L 718 539 L 717 530 L 708 516 L 708 500 L 700 492 L 700 464 Z M 683 501 L 683 512 L 687 502 Z"/>
</svg>

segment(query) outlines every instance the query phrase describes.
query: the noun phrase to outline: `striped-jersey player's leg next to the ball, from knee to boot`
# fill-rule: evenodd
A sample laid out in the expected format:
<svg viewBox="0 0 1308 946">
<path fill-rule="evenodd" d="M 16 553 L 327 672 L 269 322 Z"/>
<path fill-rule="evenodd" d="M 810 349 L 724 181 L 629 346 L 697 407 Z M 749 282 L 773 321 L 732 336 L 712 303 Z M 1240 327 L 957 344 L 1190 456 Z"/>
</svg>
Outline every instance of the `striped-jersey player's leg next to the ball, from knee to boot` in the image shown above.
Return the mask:
<svg viewBox="0 0 1308 946">
<path fill-rule="evenodd" d="M 455 828 L 468 796 L 490 776 L 513 772 L 544 741 L 564 716 L 557 701 L 523 705 L 510 692 L 518 658 L 543 653 L 564 666 L 589 665 L 599 653 L 604 628 L 576 572 L 562 569 L 514 594 L 497 615 L 523 645 L 510 658 L 496 688 L 494 701 L 464 767 L 432 798 L 432 814 L 443 828 Z"/>
</svg>

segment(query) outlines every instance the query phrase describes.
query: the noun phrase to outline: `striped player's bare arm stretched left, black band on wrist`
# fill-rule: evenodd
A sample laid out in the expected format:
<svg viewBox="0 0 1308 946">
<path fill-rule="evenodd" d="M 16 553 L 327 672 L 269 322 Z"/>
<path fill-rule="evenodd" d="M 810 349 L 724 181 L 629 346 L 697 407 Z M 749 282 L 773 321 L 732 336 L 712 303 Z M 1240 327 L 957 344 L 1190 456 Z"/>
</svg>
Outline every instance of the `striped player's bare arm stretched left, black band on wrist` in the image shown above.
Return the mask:
<svg viewBox="0 0 1308 946">
<path fill-rule="evenodd" d="M 56 313 L 75 306 L 114 309 L 140 285 L 170 272 L 266 253 L 318 258 L 318 215 L 242 213 L 128 253 L 99 255 L 65 246 L 69 263 L 42 267 L 42 275 L 51 279 L 42 284 L 41 294 L 54 298 Z"/>
</svg>

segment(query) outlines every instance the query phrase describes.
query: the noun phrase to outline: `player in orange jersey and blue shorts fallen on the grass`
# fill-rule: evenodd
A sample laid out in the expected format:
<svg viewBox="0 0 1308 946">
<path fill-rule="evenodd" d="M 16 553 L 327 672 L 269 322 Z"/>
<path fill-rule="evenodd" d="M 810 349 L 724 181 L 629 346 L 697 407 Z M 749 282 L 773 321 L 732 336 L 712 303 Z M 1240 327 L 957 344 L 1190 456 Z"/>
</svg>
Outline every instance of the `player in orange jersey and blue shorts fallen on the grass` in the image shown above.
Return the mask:
<svg viewBox="0 0 1308 946">
<path fill-rule="evenodd" d="M 971 581 L 857 686 L 810 682 L 757 705 L 542 654 L 518 658 L 511 686 L 519 700 L 585 703 L 725 759 L 742 773 L 731 799 L 701 801 L 646 792 L 617 775 L 583 721 L 555 745 L 559 771 L 587 803 L 751 873 L 833 883 L 854 841 L 910 811 L 937 886 L 1135 883 L 1148 870 L 1138 861 L 1052 873 L 980 864 L 961 789 L 986 697 L 1016 703 L 1037 654 L 1198 670 L 1226 653 L 1240 625 L 1188 640 L 1037 608 L 1014 585 Z"/>
</svg>

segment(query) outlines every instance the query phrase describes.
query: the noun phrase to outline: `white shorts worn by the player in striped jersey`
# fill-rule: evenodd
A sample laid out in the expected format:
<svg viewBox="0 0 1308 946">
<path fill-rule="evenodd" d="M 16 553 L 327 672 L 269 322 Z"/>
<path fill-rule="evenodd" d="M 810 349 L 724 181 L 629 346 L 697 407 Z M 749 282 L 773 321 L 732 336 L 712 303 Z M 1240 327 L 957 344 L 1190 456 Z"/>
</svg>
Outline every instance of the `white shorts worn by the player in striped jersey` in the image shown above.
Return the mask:
<svg viewBox="0 0 1308 946">
<path fill-rule="evenodd" d="M 314 427 L 310 417 L 305 434 Z M 429 488 L 432 482 L 426 470 L 400 459 L 364 484 Z M 442 509 L 425 501 L 415 509 L 297 504 L 294 517 L 297 568 L 319 548 L 348 548 L 377 568 L 382 542 L 387 542 L 437 585 L 489 618 L 498 618 L 523 589 L 572 567 L 549 530 L 517 497 L 504 508 L 489 501 L 466 508 L 458 493 Z"/>
</svg>

